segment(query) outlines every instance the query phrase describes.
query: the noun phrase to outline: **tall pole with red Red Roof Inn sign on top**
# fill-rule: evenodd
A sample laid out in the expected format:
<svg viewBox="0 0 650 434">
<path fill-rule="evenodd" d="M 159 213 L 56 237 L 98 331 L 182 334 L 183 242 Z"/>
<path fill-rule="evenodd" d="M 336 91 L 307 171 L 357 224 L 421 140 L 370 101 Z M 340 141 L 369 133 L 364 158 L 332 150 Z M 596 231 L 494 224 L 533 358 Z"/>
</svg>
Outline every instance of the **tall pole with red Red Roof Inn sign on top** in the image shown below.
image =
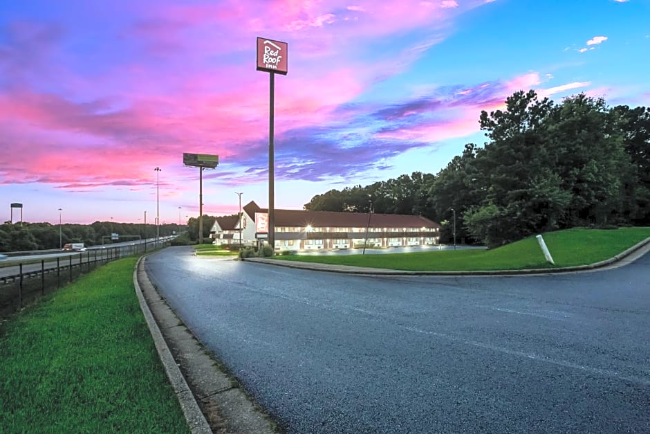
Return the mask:
<svg viewBox="0 0 650 434">
<path fill-rule="evenodd" d="M 269 73 L 268 95 L 268 244 L 275 251 L 275 150 L 273 147 L 275 74 L 287 74 L 288 44 L 273 39 L 257 38 L 257 71 Z"/>
</svg>

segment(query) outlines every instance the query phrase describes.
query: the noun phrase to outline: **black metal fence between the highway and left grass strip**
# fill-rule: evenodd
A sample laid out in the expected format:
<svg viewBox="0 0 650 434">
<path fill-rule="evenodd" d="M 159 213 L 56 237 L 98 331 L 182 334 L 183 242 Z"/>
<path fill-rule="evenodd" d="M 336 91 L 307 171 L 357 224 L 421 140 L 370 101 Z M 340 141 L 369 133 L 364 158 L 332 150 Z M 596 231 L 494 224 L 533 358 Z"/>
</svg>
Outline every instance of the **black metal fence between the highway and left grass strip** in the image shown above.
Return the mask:
<svg viewBox="0 0 650 434">
<path fill-rule="evenodd" d="M 0 264 L 0 317 L 21 309 L 107 262 L 163 246 L 165 243 L 151 242 L 93 248 L 41 260 L 36 255 L 20 261 L 3 260 Z"/>
</svg>

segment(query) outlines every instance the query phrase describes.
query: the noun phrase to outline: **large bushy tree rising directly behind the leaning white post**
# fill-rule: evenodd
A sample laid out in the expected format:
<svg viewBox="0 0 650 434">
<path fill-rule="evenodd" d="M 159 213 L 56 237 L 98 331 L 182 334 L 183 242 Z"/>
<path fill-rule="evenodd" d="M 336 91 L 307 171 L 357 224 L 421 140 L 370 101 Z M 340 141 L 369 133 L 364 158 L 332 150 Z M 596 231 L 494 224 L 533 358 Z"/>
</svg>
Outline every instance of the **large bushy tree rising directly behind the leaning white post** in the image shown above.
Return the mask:
<svg viewBox="0 0 650 434">
<path fill-rule="evenodd" d="M 505 105 L 505 111 L 481 111 L 481 129 L 492 141 L 476 152 L 471 165 L 471 199 L 478 203 L 463 204 L 470 233 L 490 245 L 557 227 L 555 214 L 566 202 L 548 134 L 555 105 L 532 90 L 515 92 Z"/>
</svg>

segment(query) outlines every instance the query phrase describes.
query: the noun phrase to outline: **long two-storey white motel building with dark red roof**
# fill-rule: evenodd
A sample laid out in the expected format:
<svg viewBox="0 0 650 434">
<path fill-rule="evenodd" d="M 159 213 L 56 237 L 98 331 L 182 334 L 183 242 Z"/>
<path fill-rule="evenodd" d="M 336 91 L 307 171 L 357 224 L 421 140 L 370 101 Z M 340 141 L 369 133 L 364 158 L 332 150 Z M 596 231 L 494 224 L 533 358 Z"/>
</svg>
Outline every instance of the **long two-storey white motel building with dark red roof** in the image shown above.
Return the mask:
<svg viewBox="0 0 650 434">
<path fill-rule="evenodd" d="M 253 246 L 266 241 L 268 210 L 250 201 L 234 216 L 216 217 L 210 230 L 213 244 Z M 339 248 L 434 246 L 440 225 L 419 215 L 275 210 L 275 251 L 315 251 Z M 366 242 L 367 239 L 367 242 Z"/>
</svg>

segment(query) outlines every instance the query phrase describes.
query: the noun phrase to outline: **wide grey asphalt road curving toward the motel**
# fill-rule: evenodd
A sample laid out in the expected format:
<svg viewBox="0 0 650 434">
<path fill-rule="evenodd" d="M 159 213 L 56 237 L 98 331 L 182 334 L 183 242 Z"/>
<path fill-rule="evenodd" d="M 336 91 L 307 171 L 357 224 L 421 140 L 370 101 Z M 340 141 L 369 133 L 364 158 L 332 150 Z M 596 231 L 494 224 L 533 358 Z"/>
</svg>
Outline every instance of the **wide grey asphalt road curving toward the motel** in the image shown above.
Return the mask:
<svg viewBox="0 0 650 434">
<path fill-rule="evenodd" d="M 146 264 L 289 433 L 650 432 L 650 254 L 511 277 L 337 275 L 185 247 Z"/>
</svg>

